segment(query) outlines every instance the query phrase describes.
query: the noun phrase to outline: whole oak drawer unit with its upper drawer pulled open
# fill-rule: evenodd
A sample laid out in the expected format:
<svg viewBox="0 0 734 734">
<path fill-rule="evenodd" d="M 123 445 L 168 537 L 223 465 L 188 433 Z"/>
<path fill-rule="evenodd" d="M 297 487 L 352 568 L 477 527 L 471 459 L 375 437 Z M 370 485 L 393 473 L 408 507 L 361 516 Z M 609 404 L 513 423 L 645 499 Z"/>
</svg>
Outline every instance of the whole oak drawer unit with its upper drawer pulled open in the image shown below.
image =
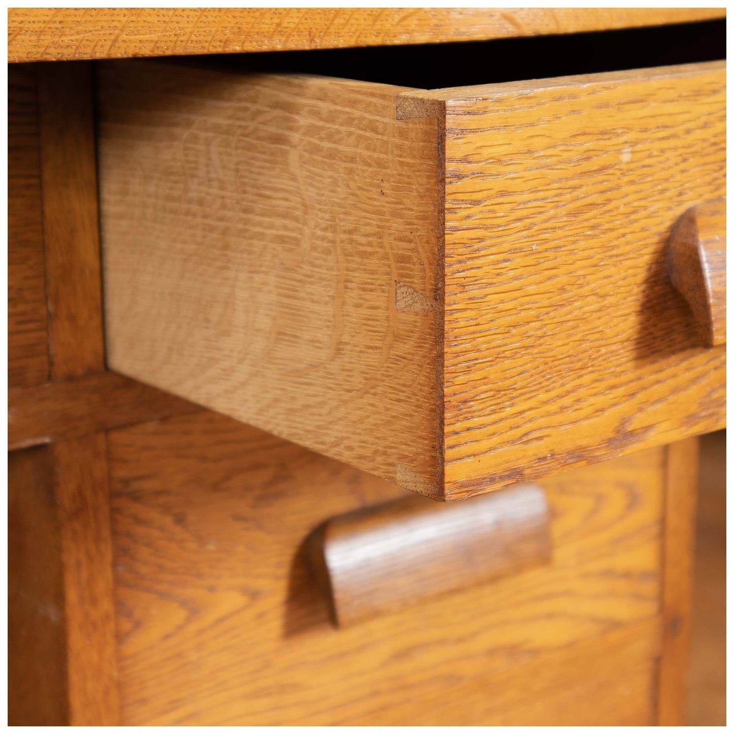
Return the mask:
<svg viewBox="0 0 734 734">
<path fill-rule="evenodd" d="M 14 12 L 11 60 L 58 61 L 10 67 L 11 722 L 680 722 L 723 21 L 680 26 L 708 55 L 436 90 L 379 48 L 119 57 L 723 12 L 423 10 L 376 42 L 330 30 L 367 10 L 288 11 L 310 40 L 211 10 L 251 15 L 205 51 L 150 10 L 121 28 L 168 50 L 99 54 Z"/>
</svg>

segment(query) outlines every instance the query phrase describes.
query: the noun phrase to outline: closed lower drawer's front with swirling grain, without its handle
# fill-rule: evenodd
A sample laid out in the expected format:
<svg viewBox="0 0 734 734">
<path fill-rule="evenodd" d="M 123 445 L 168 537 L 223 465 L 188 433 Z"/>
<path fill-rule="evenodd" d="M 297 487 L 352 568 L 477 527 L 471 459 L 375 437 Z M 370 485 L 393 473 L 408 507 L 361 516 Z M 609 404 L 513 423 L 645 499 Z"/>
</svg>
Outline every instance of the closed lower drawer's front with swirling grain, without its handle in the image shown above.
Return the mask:
<svg viewBox="0 0 734 734">
<path fill-rule="evenodd" d="M 447 690 L 658 619 L 664 457 L 548 478 L 551 567 L 335 630 L 304 540 L 399 488 L 213 413 L 112 431 L 122 722 L 451 724 Z M 475 722 L 491 723 L 483 700 Z"/>
</svg>

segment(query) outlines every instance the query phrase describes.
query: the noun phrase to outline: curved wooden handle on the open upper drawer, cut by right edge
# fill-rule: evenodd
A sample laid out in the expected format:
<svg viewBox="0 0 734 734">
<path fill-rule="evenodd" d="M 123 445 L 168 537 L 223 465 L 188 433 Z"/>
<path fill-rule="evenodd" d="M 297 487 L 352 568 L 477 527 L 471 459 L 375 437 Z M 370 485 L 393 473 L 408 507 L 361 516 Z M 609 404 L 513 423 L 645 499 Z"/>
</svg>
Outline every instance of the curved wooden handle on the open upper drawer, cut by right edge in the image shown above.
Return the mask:
<svg viewBox="0 0 734 734">
<path fill-rule="evenodd" d="M 691 206 L 668 244 L 672 284 L 688 301 L 704 346 L 727 341 L 726 200 Z"/>
</svg>

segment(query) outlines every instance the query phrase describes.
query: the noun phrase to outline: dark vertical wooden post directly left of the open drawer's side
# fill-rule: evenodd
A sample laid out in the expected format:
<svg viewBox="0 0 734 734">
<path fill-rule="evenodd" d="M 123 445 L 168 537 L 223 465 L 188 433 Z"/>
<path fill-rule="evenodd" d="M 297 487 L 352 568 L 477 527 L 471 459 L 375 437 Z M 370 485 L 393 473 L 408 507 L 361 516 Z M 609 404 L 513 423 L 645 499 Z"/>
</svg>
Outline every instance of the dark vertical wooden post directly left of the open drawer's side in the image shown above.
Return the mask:
<svg viewBox="0 0 734 734">
<path fill-rule="evenodd" d="M 97 172 L 89 63 L 38 73 L 51 377 L 104 365 Z"/>
</svg>

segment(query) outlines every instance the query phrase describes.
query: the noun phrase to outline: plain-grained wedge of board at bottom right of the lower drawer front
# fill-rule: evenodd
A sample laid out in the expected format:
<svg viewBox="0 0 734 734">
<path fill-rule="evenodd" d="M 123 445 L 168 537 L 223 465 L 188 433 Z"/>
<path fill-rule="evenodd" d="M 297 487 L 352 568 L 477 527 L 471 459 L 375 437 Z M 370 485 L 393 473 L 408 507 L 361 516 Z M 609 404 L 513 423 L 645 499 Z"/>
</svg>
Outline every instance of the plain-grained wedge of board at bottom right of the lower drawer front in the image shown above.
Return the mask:
<svg viewBox="0 0 734 734">
<path fill-rule="evenodd" d="M 650 726 L 661 626 L 659 617 L 625 625 L 451 686 L 421 706 L 405 697 L 390 720 L 431 726 L 440 711 L 450 726 Z"/>
</svg>

